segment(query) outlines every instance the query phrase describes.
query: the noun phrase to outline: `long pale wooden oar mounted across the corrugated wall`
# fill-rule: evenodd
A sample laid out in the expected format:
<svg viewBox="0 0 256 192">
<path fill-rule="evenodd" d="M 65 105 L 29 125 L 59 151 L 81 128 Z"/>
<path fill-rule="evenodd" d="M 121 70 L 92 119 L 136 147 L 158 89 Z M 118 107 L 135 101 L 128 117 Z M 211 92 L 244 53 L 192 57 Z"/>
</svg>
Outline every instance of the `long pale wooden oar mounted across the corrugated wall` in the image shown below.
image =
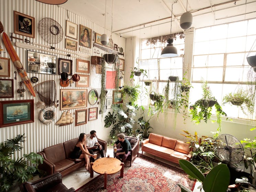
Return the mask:
<svg viewBox="0 0 256 192">
<path fill-rule="evenodd" d="M 32 44 L 35 44 L 35 43 L 32 43 Z M 43 45 L 41 45 L 41 44 L 37 44 L 37 45 L 43 46 Z M 55 54 L 59 54 L 59 55 L 65 55 L 65 56 L 68 56 L 68 57 L 70 57 L 71 54 L 73 54 L 73 55 L 75 55 L 75 56 L 72 56 L 72 57 L 77 57 L 77 58 L 81 58 L 81 57 L 90 58 L 90 55 L 87 55 L 87 54 L 82 54 L 82 53 L 71 53 L 71 54 L 58 53 L 58 52 L 55 52 L 55 51 L 50 51 L 50 50 L 42 49 L 42 48 L 36 47 L 36 46 L 34 46 L 34 45 L 31 45 L 31 44 L 27 44 L 27 43 L 16 42 L 16 43 L 15 43 L 15 46 L 16 46 L 16 47 L 20 47 L 20 48 L 25 48 L 25 49 L 32 49 L 32 50 L 44 50 L 44 51 L 46 51 L 46 52 L 55 53 Z M 44 46 L 45 46 L 45 47 L 48 47 L 48 48 L 51 48 L 51 47 L 46 46 L 46 45 L 44 45 Z M 62 50 L 62 49 L 56 49 L 56 50 Z M 65 50 L 62 50 L 62 51 L 65 51 Z"/>
</svg>

